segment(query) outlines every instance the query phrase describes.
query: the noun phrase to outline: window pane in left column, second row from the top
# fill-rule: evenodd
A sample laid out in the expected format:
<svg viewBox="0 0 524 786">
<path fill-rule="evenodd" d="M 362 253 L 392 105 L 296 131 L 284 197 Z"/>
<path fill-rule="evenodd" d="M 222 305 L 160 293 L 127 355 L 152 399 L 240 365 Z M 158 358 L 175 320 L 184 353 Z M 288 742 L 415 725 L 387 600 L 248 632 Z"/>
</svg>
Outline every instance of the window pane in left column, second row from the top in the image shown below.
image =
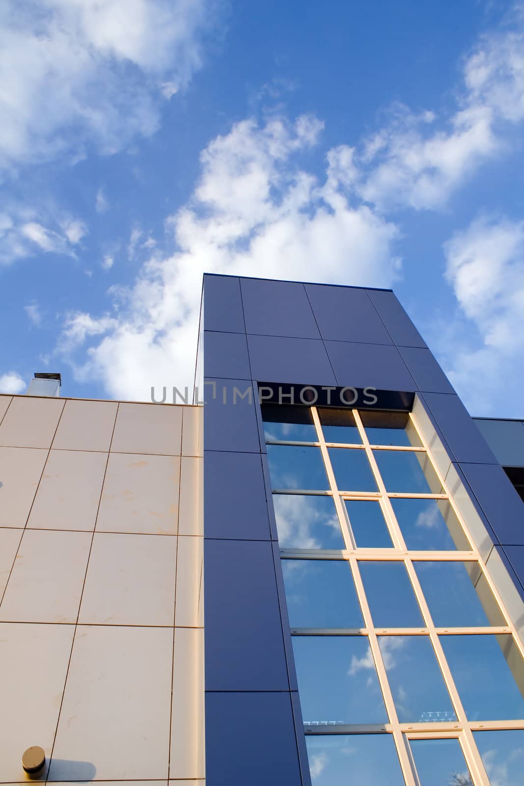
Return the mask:
<svg viewBox="0 0 524 786">
<path fill-rule="evenodd" d="M 268 445 L 267 460 L 274 489 L 329 489 L 320 447 Z"/>
</svg>

